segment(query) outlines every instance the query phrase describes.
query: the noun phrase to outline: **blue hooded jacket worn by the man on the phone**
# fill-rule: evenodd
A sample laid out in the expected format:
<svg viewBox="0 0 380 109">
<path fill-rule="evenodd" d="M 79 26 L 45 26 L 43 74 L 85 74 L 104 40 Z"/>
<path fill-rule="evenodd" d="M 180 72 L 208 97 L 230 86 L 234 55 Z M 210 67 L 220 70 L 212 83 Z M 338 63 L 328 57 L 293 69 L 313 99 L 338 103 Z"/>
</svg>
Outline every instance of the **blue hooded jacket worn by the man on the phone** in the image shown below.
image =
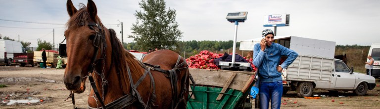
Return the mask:
<svg viewBox="0 0 380 109">
<path fill-rule="evenodd" d="M 253 65 L 258 67 L 260 82 L 277 82 L 282 81 L 281 73 L 277 71 L 281 55 L 287 58 L 281 64 L 283 69 L 287 68 L 297 58 L 298 54 L 278 43 L 273 43 L 261 51 L 260 43 L 253 47 Z"/>
</svg>

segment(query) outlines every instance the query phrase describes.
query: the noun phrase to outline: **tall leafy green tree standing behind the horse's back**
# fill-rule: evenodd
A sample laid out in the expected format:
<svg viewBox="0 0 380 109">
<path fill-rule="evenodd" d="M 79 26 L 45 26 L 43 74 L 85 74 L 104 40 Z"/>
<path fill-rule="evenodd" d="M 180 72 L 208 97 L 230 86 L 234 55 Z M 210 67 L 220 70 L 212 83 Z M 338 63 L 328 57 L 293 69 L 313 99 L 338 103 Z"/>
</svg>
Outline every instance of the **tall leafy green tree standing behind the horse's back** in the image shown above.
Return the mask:
<svg viewBox="0 0 380 109">
<path fill-rule="evenodd" d="M 176 10 L 166 9 L 164 0 L 142 0 L 139 3 L 143 11 L 137 11 L 137 21 L 132 25 L 133 35 L 139 50 L 149 48 L 170 49 L 178 48 L 182 32 L 176 22 Z"/>
</svg>

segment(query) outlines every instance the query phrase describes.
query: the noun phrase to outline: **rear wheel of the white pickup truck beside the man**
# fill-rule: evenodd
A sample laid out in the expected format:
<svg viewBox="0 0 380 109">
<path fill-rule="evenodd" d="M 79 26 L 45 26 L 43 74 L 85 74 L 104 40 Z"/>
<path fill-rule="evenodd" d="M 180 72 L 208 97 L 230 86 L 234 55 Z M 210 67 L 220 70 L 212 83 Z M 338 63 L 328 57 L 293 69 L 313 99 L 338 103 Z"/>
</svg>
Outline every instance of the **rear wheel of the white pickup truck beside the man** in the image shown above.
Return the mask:
<svg viewBox="0 0 380 109">
<path fill-rule="evenodd" d="M 313 84 L 310 82 L 301 82 L 297 86 L 297 95 L 299 97 L 310 97 L 313 94 Z"/>
</svg>

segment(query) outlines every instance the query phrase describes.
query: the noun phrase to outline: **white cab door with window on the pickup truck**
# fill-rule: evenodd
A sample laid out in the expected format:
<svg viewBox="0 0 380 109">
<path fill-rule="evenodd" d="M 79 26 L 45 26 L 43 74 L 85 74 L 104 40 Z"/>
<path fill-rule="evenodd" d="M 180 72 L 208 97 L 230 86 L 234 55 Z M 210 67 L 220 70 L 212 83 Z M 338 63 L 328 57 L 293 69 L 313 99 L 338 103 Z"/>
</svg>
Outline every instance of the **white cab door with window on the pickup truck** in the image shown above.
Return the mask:
<svg viewBox="0 0 380 109">
<path fill-rule="evenodd" d="M 355 75 L 350 74 L 347 65 L 342 61 L 334 61 L 336 74 L 336 88 L 354 89 Z"/>
</svg>

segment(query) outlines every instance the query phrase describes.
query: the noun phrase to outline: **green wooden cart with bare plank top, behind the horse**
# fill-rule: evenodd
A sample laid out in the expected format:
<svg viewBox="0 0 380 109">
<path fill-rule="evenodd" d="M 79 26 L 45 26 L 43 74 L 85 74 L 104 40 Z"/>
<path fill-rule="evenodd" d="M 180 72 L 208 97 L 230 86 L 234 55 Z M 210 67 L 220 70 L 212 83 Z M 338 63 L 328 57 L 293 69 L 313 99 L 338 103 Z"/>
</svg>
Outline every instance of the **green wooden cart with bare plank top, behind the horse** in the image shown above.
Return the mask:
<svg viewBox="0 0 380 109">
<path fill-rule="evenodd" d="M 236 109 L 244 103 L 254 84 L 254 72 L 189 70 L 195 88 L 190 86 L 190 95 L 193 95 L 188 101 L 188 109 Z"/>
</svg>

